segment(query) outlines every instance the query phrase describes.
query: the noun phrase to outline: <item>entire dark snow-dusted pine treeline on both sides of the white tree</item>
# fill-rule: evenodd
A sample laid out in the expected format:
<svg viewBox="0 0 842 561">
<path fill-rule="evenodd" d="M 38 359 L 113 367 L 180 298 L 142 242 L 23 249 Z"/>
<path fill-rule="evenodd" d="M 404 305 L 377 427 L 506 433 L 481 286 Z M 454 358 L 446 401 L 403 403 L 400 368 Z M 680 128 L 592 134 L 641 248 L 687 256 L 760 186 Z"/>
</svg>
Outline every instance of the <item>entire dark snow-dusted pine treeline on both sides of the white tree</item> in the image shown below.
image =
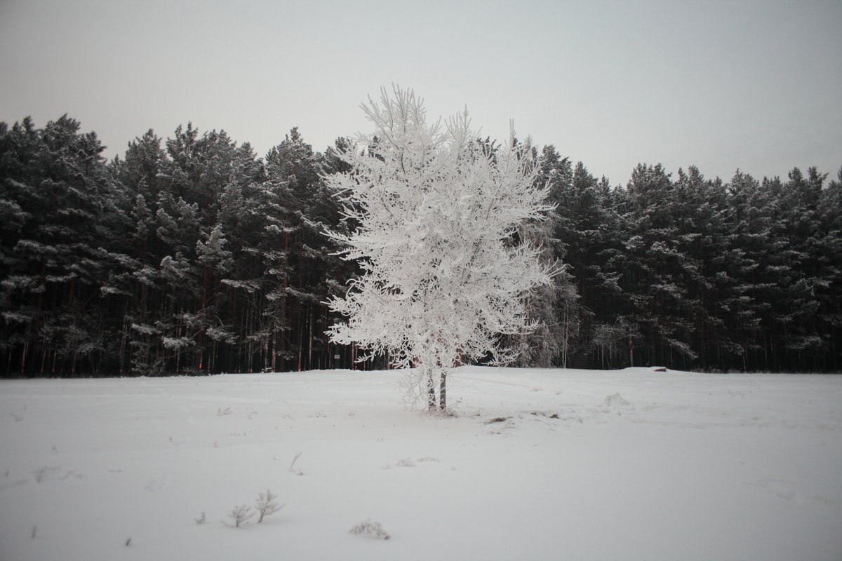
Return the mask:
<svg viewBox="0 0 842 561">
<path fill-rule="evenodd" d="M 350 368 L 322 304 L 356 273 L 322 236 L 348 227 L 322 181 L 345 142 L 293 129 L 258 157 L 188 124 L 107 161 L 67 116 L 0 124 L 0 375 Z M 530 296 L 523 364 L 839 370 L 842 171 L 612 188 L 535 156 L 557 210 L 521 235 L 567 271 Z"/>
</svg>

